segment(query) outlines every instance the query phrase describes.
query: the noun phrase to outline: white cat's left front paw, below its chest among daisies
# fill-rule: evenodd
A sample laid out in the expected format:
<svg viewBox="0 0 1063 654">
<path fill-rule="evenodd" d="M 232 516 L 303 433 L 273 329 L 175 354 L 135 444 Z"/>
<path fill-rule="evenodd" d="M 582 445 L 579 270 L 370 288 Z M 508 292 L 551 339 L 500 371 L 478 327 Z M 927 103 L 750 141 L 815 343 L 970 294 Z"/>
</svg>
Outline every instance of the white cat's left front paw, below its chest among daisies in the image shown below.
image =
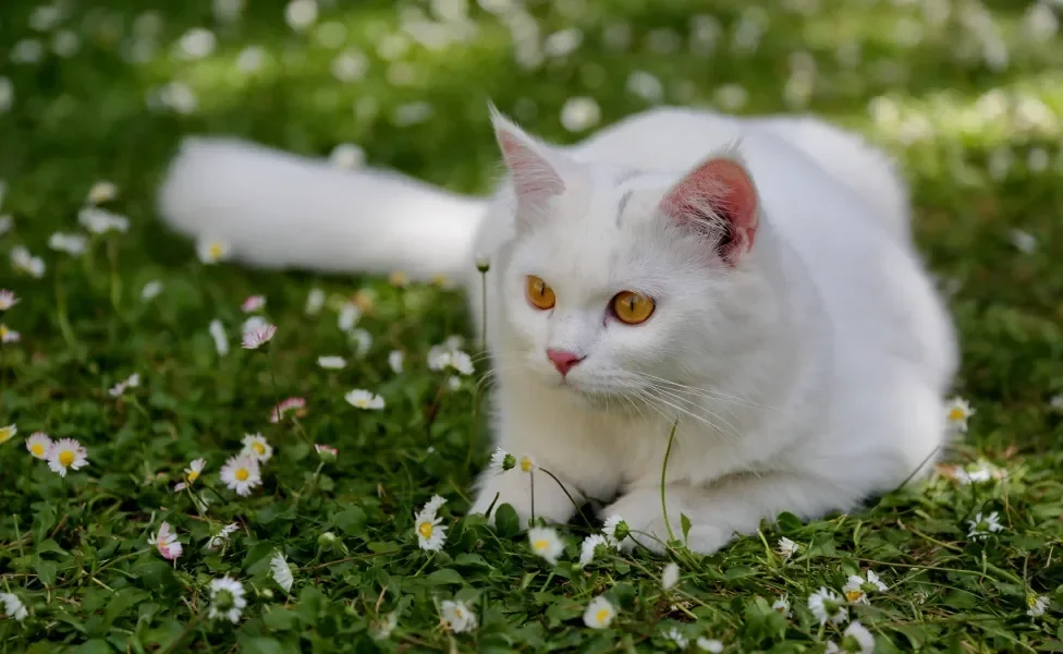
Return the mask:
<svg viewBox="0 0 1063 654">
<path fill-rule="evenodd" d="M 502 474 L 487 470 L 480 477 L 476 501 L 469 512 L 486 514 L 490 509 L 490 518 L 493 520 L 494 511 L 508 504 L 516 510 L 522 525 L 527 524 L 533 514 L 547 522 L 567 522 L 576 513 L 574 502 L 583 502 L 584 497 L 571 483 L 563 480 L 561 483 L 564 488 L 553 477 L 538 470 L 524 472 L 517 467 Z"/>
</svg>

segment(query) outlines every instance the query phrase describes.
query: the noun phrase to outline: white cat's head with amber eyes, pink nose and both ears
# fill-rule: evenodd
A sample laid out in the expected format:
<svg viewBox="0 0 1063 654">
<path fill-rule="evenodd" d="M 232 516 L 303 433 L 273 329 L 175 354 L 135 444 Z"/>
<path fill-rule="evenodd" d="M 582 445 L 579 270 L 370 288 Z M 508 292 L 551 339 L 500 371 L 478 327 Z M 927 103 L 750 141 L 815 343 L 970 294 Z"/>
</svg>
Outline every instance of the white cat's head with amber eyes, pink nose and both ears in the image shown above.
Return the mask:
<svg viewBox="0 0 1063 654">
<path fill-rule="evenodd" d="M 639 171 L 578 161 L 492 119 L 516 214 L 500 270 L 511 362 L 604 402 L 669 398 L 740 365 L 742 330 L 766 318 L 761 211 L 737 148 Z"/>
</svg>

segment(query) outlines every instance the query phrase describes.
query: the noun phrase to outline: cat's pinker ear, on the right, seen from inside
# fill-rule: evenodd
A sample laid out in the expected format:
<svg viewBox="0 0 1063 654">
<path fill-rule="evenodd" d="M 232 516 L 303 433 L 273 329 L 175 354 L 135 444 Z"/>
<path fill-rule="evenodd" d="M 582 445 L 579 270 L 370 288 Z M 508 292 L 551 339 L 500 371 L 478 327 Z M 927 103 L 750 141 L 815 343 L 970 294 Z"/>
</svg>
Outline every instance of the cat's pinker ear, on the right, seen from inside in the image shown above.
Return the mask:
<svg viewBox="0 0 1063 654">
<path fill-rule="evenodd" d="M 756 241 L 760 206 L 753 177 L 732 149 L 702 161 L 672 186 L 661 211 L 704 235 L 735 265 Z"/>
</svg>

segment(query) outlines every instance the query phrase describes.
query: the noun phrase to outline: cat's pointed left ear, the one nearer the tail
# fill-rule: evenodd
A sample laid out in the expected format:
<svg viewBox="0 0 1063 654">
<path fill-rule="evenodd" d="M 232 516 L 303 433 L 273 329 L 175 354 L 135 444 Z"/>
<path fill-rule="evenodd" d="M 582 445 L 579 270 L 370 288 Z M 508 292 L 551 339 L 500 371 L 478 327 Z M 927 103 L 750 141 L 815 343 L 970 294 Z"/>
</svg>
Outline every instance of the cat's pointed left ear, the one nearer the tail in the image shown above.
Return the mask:
<svg viewBox="0 0 1063 654">
<path fill-rule="evenodd" d="M 540 214 L 543 204 L 551 197 L 565 192 L 563 174 L 570 164 L 563 155 L 552 152 L 505 118 L 493 104 L 488 107 L 491 124 L 494 125 L 494 138 L 513 179 L 521 214 L 524 218 L 530 218 Z"/>
</svg>

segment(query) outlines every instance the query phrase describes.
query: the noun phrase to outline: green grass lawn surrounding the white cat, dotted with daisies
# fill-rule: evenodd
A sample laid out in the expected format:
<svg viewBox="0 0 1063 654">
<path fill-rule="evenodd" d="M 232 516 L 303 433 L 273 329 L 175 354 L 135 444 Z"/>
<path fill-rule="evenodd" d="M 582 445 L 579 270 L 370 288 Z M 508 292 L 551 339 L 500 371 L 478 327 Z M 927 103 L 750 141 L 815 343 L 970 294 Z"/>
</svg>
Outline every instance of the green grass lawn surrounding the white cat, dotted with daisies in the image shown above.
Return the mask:
<svg viewBox="0 0 1063 654">
<path fill-rule="evenodd" d="M 389 81 L 390 64 L 376 48 L 396 31 L 393 3 L 322 9 L 319 23 L 342 22 L 349 46 L 367 53 L 365 77 L 351 84 L 331 77 L 334 51 L 314 29 L 297 35 L 284 24 L 283 2 L 251 4 L 241 22 L 217 27 L 203 0 L 71 2 L 63 27 L 81 37 L 80 52 L 16 64 L 7 55 L 17 41 L 42 38 L 47 49 L 51 36 L 26 26 L 34 4 L 3 2 L 0 76 L 14 100 L 0 113 L 0 179 L 8 182 L 2 213 L 14 228 L 0 237 L 0 288 L 22 298 L 2 320 L 23 338 L 0 350 L 0 425 L 19 426 L 0 445 L 0 592 L 17 595 L 30 615 L 0 618 L 0 652 L 674 651 L 663 635 L 672 628 L 692 649 L 694 638 L 710 637 L 726 652 L 822 652 L 840 629 L 821 627 L 807 596 L 820 586 L 840 590 L 868 569 L 889 590 L 852 615 L 879 652 L 1063 650 L 1063 414 L 1050 405 L 1063 392 L 1063 41 L 1025 35 L 1025 3 L 988 3 L 1010 55 L 1003 70 L 964 56 L 973 36 L 958 3 L 946 3 L 951 17 L 931 24 L 920 3 L 884 1 L 822 0 L 808 15 L 781 7 L 817 3 L 537 1 L 529 11 L 543 35 L 576 27 L 583 43 L 532 70 L 513 63 L 504 25 L 473 4 L 477 31 L 441 51 L 413 44 L 402 56 L 412 68 L 399 71 L 410 83 L 401 86 Z M 767 10 L 759 45 L 736 51 L 731 37 L 754 5 Z M 134 19 L 152 7 L 163 19 L 158 55 L 127 63 Z M 689 19 L 698 13 L 721 28 L 711 53 L 691 45 Z M 897 25 L 904 32 L 913 22 L 921 39 L 899 45 Z M 603 36 L 618 24 L 627 26 L 630 44 Z M 174 61 L 170 44 L 196 25 L 217 27 L 217 50 Z M 673 51 L 648 45 L 676 40 L 662 31 L 677 37 Z M 854 39 L 863 44 L 860 61 L 845 65 L 835 53 Z M 271 57 L 243 75 L 233 62 L 252 44 Z M 804 107 L 783 90 L 795 51 L 817 64 Z M 489 455 L 474 409 L 487 366 L 478 364 L 457 389 L 426 366 L 432 344 L 469 332 L 456 293 L 208 267 L 157 220 L 154 190 L 184 134 L 237 134 L 319 155 L 354 142 L 371 165 L 484 191 L 498 159 L 488 98 L 529 129 L 571 142 L 579 134 L 560 121 L 570 97 L 595 98 L 603 123 L 648 106 L 625 90 L 632 70 L 657 75 L 671 104 L 714 106 L 721 86 L 737 84 L 747 95 L 740 112 L 811 110 L 897 155 L 913 185 L 921 251 L 955 291 L 964 354 L 957 393 L 977 410 L 949 459 L 987 462 L 1006 479 L 960 485 L 939 476 L 855 514 L 810 524 L 783 516 L 761 537 L 714 556 L 675 548 L 669 558 L 682 574 L 671 591 L 660 585 L 659 557 L 612 554 L 577 569 L 578 543 L 595 524 L 566 529 L 565 554 L 550 566 L 530 553 L 526 525 L 464 517 Z M 152 89 L 172 80 L 196 92 L 196 112 L 148 110 Z M 433 118 L 396 125 L 395 109 L 414 101 L 429 102 Z M 1010 167 L 1001 148 L 1014 159 Z M 49 251 L 52 232 L 81 231 L 77 210 L 100 179 L 119 185 L 107 206 L 130 217 L 130 232 L 98 238 L 76 258 Z M 1036 250 L 1016 249 L 1013 230 L 1033 235 Z M 12 269 L 8 251 L 16 244 L 46 261 L 44 278 Z M 164 290 L 144 302 L 150 280 Z M 364 356 L 338 328 L 334 307 L 304 313 L 315 287 L 341 302 L 358 291 L 371 298 L 358 324 L 372 337 Z M 268 354 L 236 342 L 240 303 L 255 293 L 268 298 L 265 313 L 278 326 Z M 225 356 L 208 335 L 213 319 L 230 335 Z M 467 348 L 475 353 L 475 343 Z M 401 375 L 388 366 L 392 350 L 406 352 Z M 351 364 L 321 371 L 316 360 L 325 354 Z M 139 387 L 110 397 L 108 388 L 132 373 Z M 380 393 L 386 409 L 349 405 L 343 393 L 352 388 Z M 269 423 L 278 398 L 290 396 L 307 399 L 305 415 L 297 425 Z M 89 464 L 65 479 L 50 472 L 23 447 L 37 431 L 81 440 Z M 262 486 L 241 498 L 218 474 L 255 432 L 276 452 Z M 313 443 L 335 446 L 339 460 L 319 464 Z M 195 484 L 205 508 L 172 492 L 196 457 L 207 460 Z M 413 516 L 435 493 L 448 500 L 441 516 L 450 532 L 442 552 L 429 555 L 417 546 Z M 1004 529 L 969 538 L 967 521 L 991 511 Z M 162 521 L 184 544 L 175 562 L 147 544 Z M 228 547 L 204 553 L 210 534 L 230 522 L 240 529 Z M 327 532 L 337 541 L 322 546 Z M 789 561 L 773 553 L 781 536 L 801 544 Z M 276 552 L 293 568 L 290 594 L 269 577 Z M 208 584 L 223 574 L 247 591 L 236 625 L 207 619 Z M 618 617 L 609 629 L 588 629 L 584 608 L 602 593 Z M 783 594 L 792 618 L 771 609 Z M 1035 595 L 1050 606 L 1031 618 Z M 451 598 L 475 608 L 476 630 L 440 628 L 438 606 Z M 393 632 L 375 639 L 389 615 L 396 616 Z"/>
</svg>

